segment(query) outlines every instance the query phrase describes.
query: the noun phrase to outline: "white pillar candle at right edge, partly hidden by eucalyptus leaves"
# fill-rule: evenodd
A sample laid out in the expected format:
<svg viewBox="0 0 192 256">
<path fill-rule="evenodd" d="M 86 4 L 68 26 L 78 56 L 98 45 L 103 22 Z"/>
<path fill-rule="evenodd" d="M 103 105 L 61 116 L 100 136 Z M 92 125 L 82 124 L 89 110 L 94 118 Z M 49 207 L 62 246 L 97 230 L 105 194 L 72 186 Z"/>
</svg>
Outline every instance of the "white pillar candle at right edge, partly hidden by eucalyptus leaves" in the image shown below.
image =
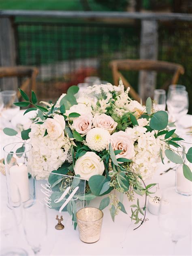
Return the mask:
<svg viewBox="0 0 192 256">
<path fill-rule="evenodd" d="M 191 166 L 189 165 L 190 169 Z M 176 171 L 176 189 L 183 193 L 191 193 L 192 192 L 192 182 L 186 179 L 183 175 L 183 165 L 179 165 Z"/>
</svg>

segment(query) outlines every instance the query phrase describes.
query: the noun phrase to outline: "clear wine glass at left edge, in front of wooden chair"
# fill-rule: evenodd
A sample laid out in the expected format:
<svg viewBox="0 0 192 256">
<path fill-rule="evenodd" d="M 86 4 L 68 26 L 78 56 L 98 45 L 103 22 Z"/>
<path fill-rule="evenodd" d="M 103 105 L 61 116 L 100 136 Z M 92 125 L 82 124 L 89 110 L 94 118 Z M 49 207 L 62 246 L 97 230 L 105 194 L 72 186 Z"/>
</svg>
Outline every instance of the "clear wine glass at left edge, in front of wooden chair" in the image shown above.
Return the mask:
<svg viewBox="0 0 192 256">
<path fill-rule="evenodd" d="M 20 107 L 13 104 L 19 101 L 17 98 L 17 92 L 13 90 L 7 90 L 0 92 L 0 95 L 3 102 L 3 107 L 1 110 L 2 117 L 9 121 L 9 124 L 11 124 L 12 118 L 17 115 L 20 109 Z"/>
</svg>

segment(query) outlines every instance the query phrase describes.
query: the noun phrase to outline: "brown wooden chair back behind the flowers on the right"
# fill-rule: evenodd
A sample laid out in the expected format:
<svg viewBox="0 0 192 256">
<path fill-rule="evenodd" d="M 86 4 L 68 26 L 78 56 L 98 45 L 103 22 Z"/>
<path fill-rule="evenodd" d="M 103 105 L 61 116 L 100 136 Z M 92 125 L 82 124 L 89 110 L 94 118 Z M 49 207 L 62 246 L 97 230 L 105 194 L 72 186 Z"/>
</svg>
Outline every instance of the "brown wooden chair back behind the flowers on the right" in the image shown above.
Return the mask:
<svg viewBox="0 0 192 256">
<path fill-rule="evenodd" d="M 109 66 L 112 68 L 113 72 L 113 81 L 115 85 L 119 84 L 119 78 L 121 77 L 125 87 L 130 87 L 130 95 L 136 101 L 140 102 L 139 94 L 132 88 L 130 83 L 125 79 L 119 70 L 145 70 L 145 71 L 156 71 L 156 72 L 164 72 L 168 74 L 173 74 L 171 79 L 171 83 L 166 83 L 162 86 L 162 89 L 167 89 L 170 84 L 176 84 L 179 75 L 184 74 L 185 70 L 183 66 L 170 63 L 166 61 L 156 61 L 156 60 L 149 60 L 149 59 L 121 59 L 121 60 L 113 60 L 109 63 Z"/>
</svg>

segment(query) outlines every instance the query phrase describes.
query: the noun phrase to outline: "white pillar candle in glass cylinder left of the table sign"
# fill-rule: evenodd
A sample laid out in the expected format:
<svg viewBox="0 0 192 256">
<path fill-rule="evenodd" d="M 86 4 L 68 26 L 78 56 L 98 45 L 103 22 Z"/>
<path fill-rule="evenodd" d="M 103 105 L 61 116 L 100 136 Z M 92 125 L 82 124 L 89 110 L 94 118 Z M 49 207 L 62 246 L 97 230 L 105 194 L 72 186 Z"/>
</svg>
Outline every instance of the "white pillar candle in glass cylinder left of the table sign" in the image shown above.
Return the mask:
<svg viewBox="0 0 192 256">
<path fill-rule="evenodd" d="M 11 187 L 11 200 L 18 202 L 19 193 L 21 195 L 21 201 L 25 202 L 30 198 L 29 195 L 29 178 L 28 167 L 24 164 L 17 164 L 10 168 L 10 187 Z"/>
</svg>

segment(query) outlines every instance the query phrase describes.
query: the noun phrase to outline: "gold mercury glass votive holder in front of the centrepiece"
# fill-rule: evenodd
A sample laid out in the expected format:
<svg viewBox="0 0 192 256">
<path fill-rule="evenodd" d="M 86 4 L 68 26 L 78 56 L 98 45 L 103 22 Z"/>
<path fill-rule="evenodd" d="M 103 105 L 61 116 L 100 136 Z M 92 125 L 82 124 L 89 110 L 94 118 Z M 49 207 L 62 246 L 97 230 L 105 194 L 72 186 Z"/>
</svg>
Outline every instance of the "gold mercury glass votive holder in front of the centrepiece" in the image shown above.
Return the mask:
<svg viewBox="0 0 192 256">
<path fill-rule="evenodd" d="M 100 239 L 103 212 L 95 207 L 85 207 L 77 214 L 79 238 L 84 243 L 95 243 Z"/>
</svg>

